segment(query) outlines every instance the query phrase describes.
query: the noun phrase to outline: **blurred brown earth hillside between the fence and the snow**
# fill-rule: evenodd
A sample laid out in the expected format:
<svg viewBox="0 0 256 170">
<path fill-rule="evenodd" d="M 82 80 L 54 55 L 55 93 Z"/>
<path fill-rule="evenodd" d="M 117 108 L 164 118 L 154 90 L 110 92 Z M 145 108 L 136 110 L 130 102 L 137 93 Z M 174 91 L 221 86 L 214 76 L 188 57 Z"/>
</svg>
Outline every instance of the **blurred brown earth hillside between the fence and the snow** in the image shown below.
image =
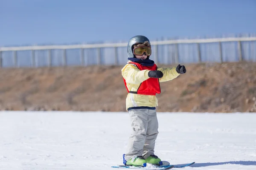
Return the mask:
<svg viewBox="0 0 256 170">
<path fill-rule="evenodd" d="M 125 111 L 127 92 L 121 68 L 2 68 L 0 109 Z M 186 68 L 186 74 L 160 83 L 157 111 L 256 111 L 256 63 L 190 64 Z"/>
</svg>

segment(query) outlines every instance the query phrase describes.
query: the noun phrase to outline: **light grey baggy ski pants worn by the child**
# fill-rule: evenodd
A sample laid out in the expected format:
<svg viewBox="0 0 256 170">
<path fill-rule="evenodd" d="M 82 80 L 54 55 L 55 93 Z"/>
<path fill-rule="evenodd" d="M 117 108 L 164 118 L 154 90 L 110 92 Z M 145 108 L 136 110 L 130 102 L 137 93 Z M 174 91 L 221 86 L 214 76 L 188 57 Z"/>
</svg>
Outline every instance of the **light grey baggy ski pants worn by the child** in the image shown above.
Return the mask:
<svg viewBox="0 0 256 170">
<path fill-rule="evenodd" d="M 125 159 L 134 156 L 143 156 L 145 159 L 154 154 L 155 141 L 158 134 L 158 121 L 156 110 L 131 109 L 132 133 L 128 142 L 128 152 Z"/>
</svg>

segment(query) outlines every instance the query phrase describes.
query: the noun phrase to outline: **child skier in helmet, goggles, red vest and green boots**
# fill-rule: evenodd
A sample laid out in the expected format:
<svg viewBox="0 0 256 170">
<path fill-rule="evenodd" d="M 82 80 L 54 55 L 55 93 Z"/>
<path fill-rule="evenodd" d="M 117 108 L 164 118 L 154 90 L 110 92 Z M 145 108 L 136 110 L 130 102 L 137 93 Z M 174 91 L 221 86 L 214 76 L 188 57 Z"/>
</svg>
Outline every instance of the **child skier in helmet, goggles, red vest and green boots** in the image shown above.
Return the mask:
<svg viewBox="0 0 256 170">
<path fill-rule="evenodd" d="M 157 68 L 149 59 L 151 44 L 145 36 L 132 37 L 127 46 L 128 64 L 122 68 L 122 77 L 128 91 L 126 109 L 131 118 L 132 134 L 129 138 L 128 153 L 124 154 L 124 164 L 159 164 L 154 155 L 158 134 L 156 94 L 160 94 L 159 82 L 175 79 L 186 73 L 184 65 L 177 68 Z"/>
</svg>

